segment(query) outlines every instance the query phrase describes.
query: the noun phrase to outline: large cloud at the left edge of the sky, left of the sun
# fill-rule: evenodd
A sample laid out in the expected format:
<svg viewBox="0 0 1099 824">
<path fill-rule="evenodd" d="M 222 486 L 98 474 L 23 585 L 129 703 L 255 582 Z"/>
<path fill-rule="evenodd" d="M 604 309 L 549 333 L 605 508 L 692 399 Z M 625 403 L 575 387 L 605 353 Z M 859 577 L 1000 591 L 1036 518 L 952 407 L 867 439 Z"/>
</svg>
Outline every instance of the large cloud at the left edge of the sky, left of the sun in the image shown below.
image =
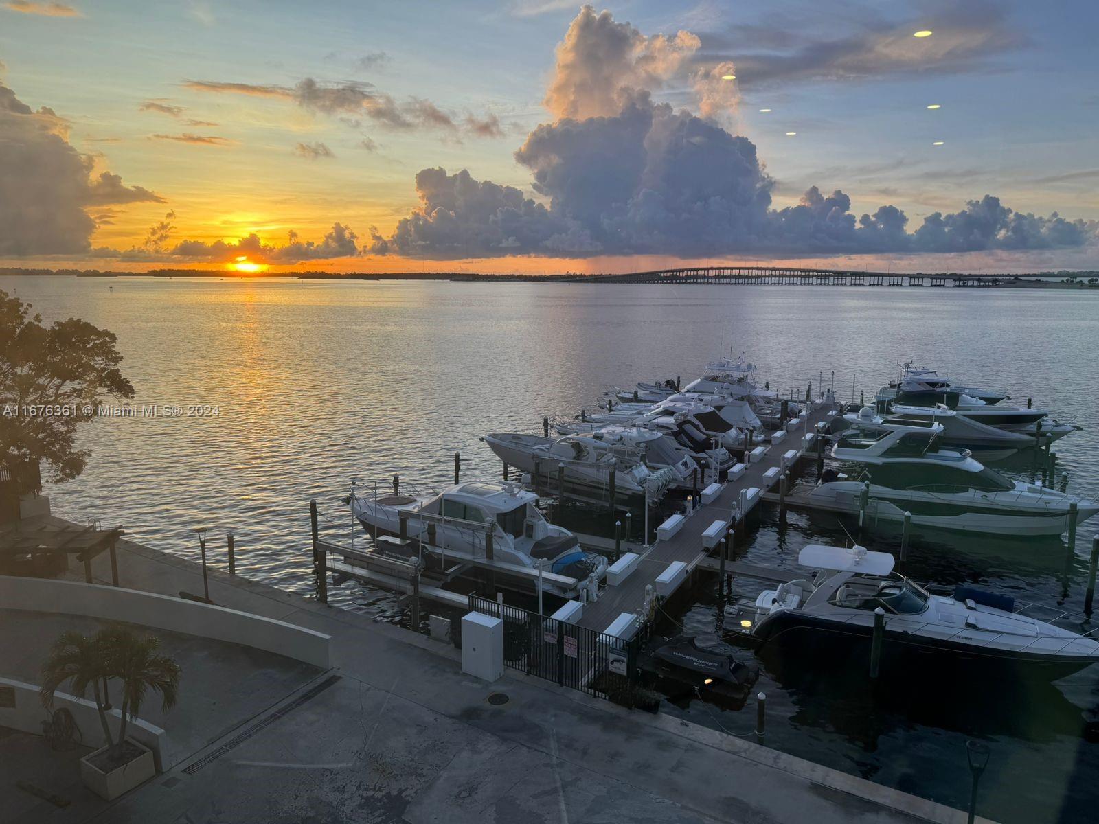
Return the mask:
<svg viewBox="0 0 1099 824">
<path fill-rule="evenodd" d="M 67 140 L 51 109 L 34 111 L 0 83 L 0 255 L 80 254 L 90 248 L 95 220 L 86 207 L 163 202 L 155 192 L 126 186 L 118 175 L 96 174 L 96 160 Z"/>
</svg>

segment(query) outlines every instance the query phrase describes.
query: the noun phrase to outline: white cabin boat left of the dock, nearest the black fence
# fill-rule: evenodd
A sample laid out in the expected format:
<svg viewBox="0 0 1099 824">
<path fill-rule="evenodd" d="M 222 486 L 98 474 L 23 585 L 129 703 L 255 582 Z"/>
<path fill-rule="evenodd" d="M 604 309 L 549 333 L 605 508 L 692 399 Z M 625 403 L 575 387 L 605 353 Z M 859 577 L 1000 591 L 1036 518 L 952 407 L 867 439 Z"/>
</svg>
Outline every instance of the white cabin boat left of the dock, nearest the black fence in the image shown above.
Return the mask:
<svg viewBox="0 0 1099 824">
<path fill-rule="evenodd" d="M 349 505 L 374 536 L 399 535 L 403 519 L 406 536 L 422 542 L 424 552 L 444 563 L 447 557 L 486 559 L 485 535 L 490 525 L 493 560 L 528 569 L 541 564 L 545 572 L 575 579 L 575 586 L 555 578 L 543 581 L 546 592 L 571 598 L 589 586 L 591 576 L 598 581 L 606 575 L 607 558 L 585 552 L 573 533 L 548 523 L 535 505 L 537 500 L 518 483 L 473 481 L 424 497 L 353 495 Z"/>
</svg>

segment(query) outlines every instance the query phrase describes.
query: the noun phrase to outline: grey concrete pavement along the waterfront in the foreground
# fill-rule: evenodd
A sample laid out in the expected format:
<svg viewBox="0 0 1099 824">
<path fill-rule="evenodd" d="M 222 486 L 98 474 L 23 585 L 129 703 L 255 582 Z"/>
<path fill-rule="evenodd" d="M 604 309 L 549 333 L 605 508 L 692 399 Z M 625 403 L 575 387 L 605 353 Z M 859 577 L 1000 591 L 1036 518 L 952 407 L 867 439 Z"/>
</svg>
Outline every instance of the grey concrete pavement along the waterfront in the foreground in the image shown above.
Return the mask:
<svg viewBox="0 0 1099 824">
<path fill-rule="evenodd" d="M 201 591 L 196 565 L 129 542 L 120 568 L 123 586 Z M 106 561 L 96 574 L 109 579 Z M 212 760 L 188 772 L 189 759 L 90 820 L 965 821 L 855 776 L 510 670 L 486 684 L 459 671 L 453 647 L 263 584 L 212 572 L 211 597 L 332 635 L 340 679 L 298 704 L 287 695 L 292 709 L 273 723 L 254 733 L 242 724 L 227 736 L 240 738 L 234 746 L 219 749 L 222 739 L 204 750 Z M 508 700 L 491 704 L 491 693 Z M 165 724 L 171 733 L 170 716 Z"/>
</svg>

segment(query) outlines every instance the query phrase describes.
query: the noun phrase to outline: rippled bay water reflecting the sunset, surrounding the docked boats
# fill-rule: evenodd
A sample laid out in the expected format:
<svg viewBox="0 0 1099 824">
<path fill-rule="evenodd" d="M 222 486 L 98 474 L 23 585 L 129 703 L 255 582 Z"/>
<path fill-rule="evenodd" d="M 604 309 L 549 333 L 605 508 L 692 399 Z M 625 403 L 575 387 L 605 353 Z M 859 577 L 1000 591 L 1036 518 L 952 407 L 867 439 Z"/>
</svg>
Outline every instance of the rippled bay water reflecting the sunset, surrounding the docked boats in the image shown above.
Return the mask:
<svg viewBox="0 0 1099 824">
<path fill-rule="evenodd" d="M 237 279 L 0 277 L 0 289 L 45 320 L 82 318 L 113 331 L 135 404 L 217 407 L 208 417 L 97 421 L 77 481 L 51 487 L 55 511 L 121 524 L 158 549 L 211 557 L 236 537 L 237 569 L 311 597 L 308 502 L 346 539 L 341 498 L 369 488 L 445 485 L 453 454 L 463 476 L 498 476 L 478 437 L 541 430 L 543 415 L 593 409 L 608 385 L 696 377 L 730 345 L 773 388 L 804 392 L 834 371 L 837 394 L 867 394 L 914 358 L 1017 400 L 1075 417 L 1083 432 L 1055 445 L 1070 490 L 1099 493 L 1099 294 L 1034 290 L 829 287 L 659 287 L 540 283 L 299 282 Z M 854 379 L 854 381 L 853 381 Z M 1033 475 L 1028 460 L 1006 467 Z M 850 528 L 850 526 L 848 526 Z M 977 582 L 1019 600 L 1079 612 L 1091 535 L 1077 546 L 926 535 L 906 571 L 918 580 Z M 789 566 L 811 541 L 844 541 L 831 517 L 769 508 L 746 559 Z M 896 548 L 897 535 L 875 535 Z M 757 589 L 739 581 L 735 595 Z M 395 599 L 346 588 L 341 602 L 397 620 Z M 717 637 L 717 587 L 671 614 Z M 864 673 L 797 672 L 764 662 L 770 746 L 875 781 L 964 805 L 964 744 L 992 747 L 981 810 L 1011 822 L 1089 821 L 1099 803 L 1099 673 L 1008 691 L 923 679 L 882 691 Z M 666 711 L 732 733 L 748 711 L 699 701 Z M 730 780 L 735 780 L 731 777 Z"/>
</svg>

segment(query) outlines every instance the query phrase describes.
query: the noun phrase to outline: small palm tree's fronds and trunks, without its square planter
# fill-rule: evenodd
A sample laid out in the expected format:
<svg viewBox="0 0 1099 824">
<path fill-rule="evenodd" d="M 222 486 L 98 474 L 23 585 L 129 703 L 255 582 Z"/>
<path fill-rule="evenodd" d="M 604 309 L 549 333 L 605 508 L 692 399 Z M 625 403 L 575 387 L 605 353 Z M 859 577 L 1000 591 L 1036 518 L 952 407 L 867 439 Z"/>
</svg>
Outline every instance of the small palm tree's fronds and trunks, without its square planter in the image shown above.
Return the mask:
<svg viewBox="0 0 1099 824">
<path fill-rule="evenodd" d="M 108 626 L 90 637 L 75 631 L 62 633 L 42 665 L 42 703 L 53 708 L 54 693 L 66 681 L 77 698 L 85 698 L 90 686 L 107 743 L 114 755 L 121 755 L 126 722 L 137 716 L 149 689 L 160 693 L 165 712 L 176 704 L 179 665 L 157 652 L 159 644 L 153 635 L 138 636 L 122 626 Z M 110 679 L 122 682 L 118 738 L 111 735 L 107 723 L 106 689 Z"/>
</svg>

